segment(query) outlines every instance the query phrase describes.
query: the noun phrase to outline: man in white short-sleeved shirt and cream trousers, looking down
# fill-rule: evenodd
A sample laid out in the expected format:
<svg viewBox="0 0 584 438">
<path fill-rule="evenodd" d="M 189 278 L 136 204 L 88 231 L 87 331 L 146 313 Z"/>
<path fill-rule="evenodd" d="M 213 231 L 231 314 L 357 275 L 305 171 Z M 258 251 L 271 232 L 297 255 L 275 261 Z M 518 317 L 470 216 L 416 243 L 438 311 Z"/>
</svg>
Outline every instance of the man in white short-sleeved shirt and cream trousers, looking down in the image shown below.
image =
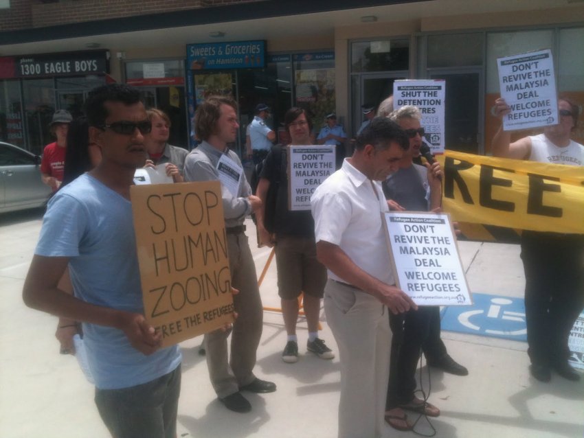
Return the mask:
<svg viewBox="0 0 584 438">
<path fill-rule="evenodd" d="M 381 436 L 391 345 L 386 312 L 416 308 L 393 286 L 380 214 L 388 204 L 379 181 L 398 169 L 408 146 L 397 124 L 374 119 L 311 199 L 317 257 L 328 269 L 324 310 L 341 361 L 339 437 Z"/>
</svg>

